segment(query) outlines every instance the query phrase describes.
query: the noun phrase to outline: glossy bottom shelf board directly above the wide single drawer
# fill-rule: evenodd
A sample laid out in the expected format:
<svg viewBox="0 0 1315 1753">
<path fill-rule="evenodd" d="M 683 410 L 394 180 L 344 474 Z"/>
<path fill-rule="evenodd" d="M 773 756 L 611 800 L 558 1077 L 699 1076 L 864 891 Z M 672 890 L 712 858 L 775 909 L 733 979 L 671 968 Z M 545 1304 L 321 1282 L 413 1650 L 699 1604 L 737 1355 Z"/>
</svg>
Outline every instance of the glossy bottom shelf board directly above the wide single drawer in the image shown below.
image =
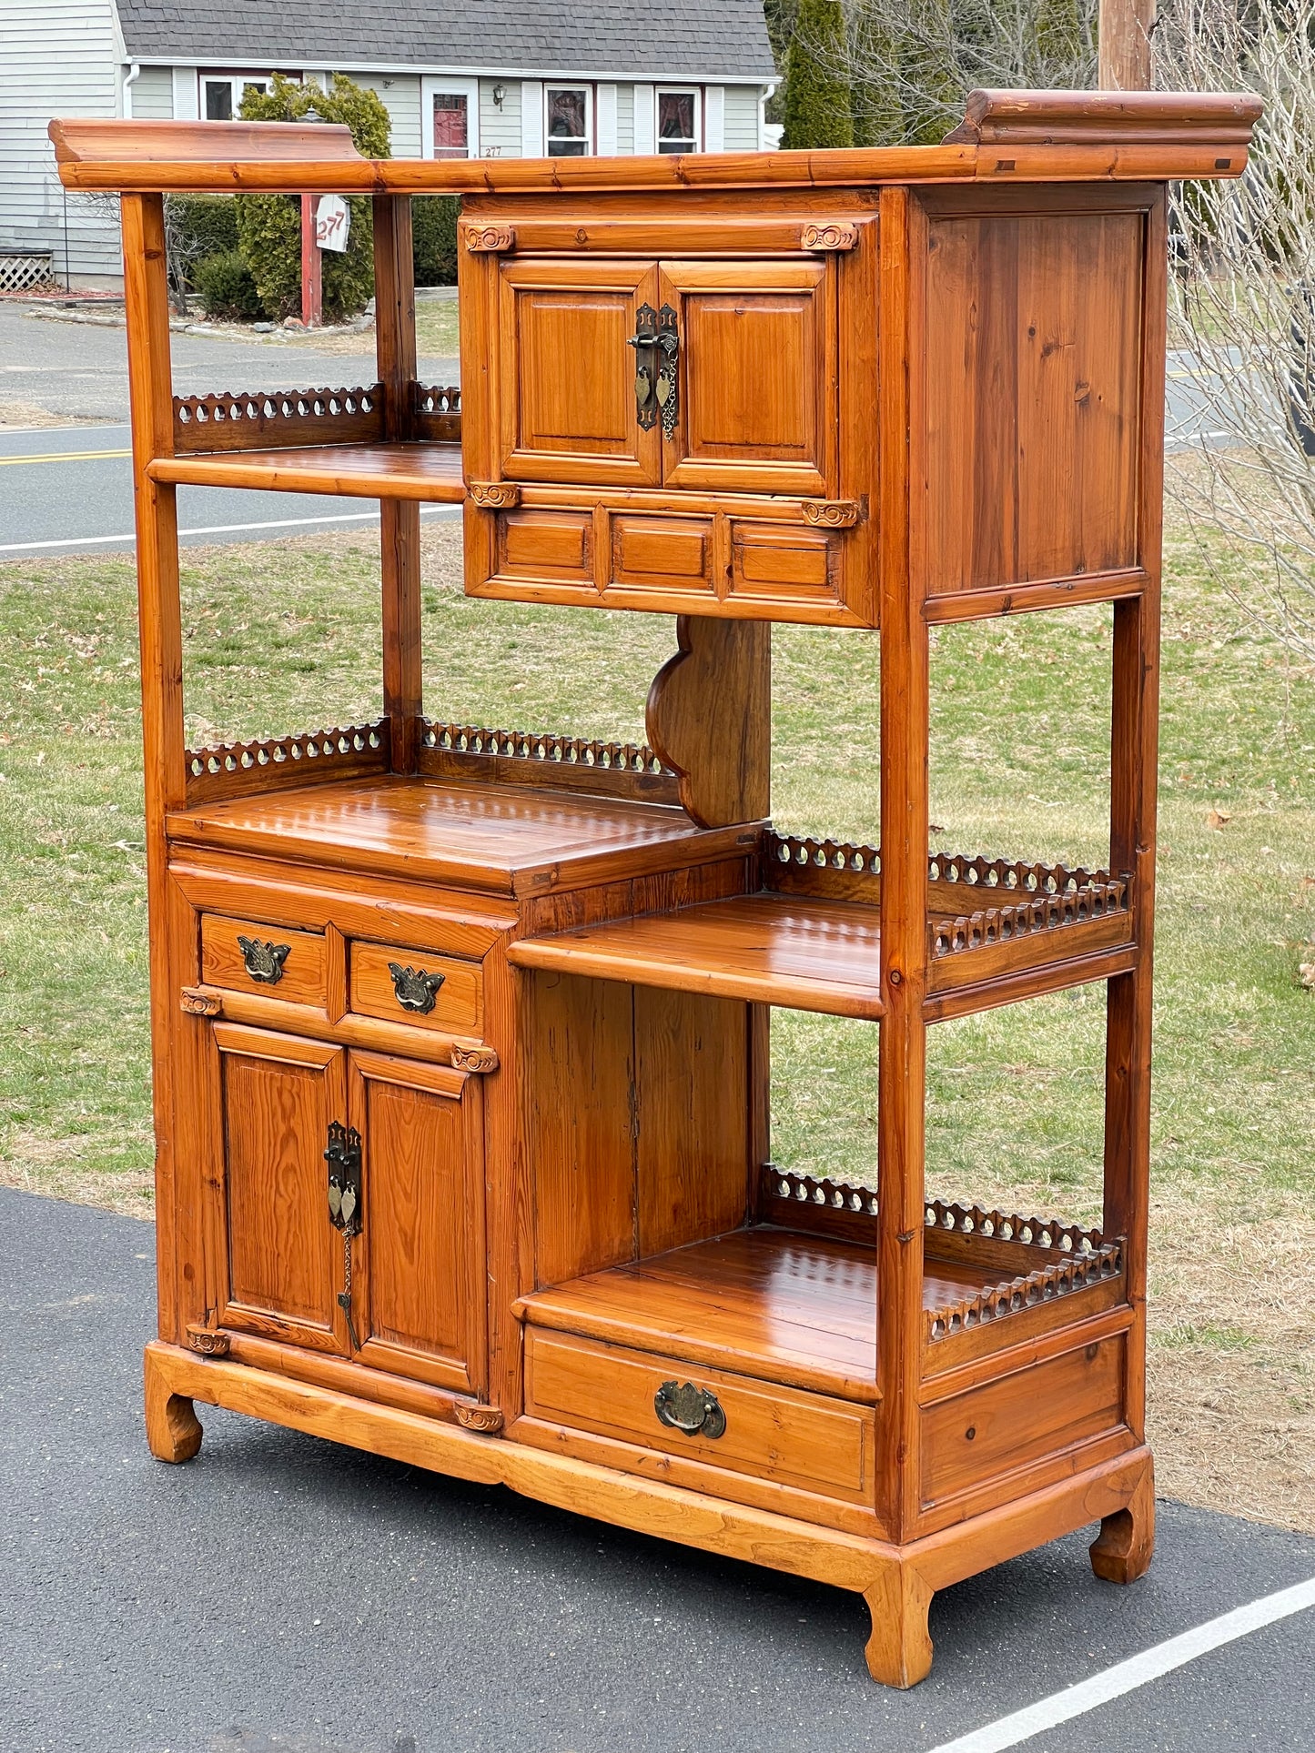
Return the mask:
<svg viewBox="0 0 1315 1753">
<path fill-rule="evenodd" d="M 957 1302 L 996 1278 L 928 1260 L 922 1304 Z M 537 1327 L 877 1401 L 877 1250 L 859 1241 L 742 1229 L 538 1290 L 519 1309 Z"/>
</svg>

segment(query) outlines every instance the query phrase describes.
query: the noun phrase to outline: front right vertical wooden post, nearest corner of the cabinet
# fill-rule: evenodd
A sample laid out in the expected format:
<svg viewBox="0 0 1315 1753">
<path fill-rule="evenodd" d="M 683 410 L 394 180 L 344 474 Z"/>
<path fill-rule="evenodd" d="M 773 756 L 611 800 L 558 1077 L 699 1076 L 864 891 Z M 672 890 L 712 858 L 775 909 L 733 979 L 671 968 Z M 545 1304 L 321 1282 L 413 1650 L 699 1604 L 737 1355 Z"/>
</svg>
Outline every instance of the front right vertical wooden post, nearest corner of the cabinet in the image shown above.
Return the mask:
<svg viewBox="0 0 1315 1753">
<path fill-rule="evenodd" d="M 926 221 L 908 189 L 880 193 L 880 640 L 882 640 L 882 1004 L 878 1069 L 877 1387 L 878 1502 L 892 1539 L 919 1509 L 917 1388 L 922 1332 L 926 1138 L 928 722 L 922 578 L 910 554 L 910 261 Z"/>
</svg>

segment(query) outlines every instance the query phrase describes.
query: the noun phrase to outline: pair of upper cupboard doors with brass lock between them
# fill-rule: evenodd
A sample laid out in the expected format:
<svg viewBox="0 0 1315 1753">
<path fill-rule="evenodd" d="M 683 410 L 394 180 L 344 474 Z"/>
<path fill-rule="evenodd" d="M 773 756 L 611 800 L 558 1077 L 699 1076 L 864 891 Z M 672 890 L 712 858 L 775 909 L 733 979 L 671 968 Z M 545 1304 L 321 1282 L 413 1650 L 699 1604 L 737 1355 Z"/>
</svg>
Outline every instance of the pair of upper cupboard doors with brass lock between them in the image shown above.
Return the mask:
<svg viewBox="0 0 1315 1753">
<path fill-rule="evenodd" d="M 505 480 L 836 491 L 829 259 L 500 261 L 498 361 Z"/>
</svg>

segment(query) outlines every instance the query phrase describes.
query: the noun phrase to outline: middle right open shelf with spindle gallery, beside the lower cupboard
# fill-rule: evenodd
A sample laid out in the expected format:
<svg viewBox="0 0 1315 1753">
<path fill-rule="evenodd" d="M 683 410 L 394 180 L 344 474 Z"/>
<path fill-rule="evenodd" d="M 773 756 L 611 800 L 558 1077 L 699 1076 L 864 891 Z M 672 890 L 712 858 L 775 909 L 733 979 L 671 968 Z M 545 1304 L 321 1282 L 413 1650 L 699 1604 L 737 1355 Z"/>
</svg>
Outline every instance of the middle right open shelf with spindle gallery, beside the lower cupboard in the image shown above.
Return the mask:
<svg viewBox="0 0 1315 1753">
<path fill-rule="evenodd" d="M 508 955 L 521 968 L 877 1018 L 878 864 L 873 847 L 768 834 L 754 894 L 522 938 Z M 1127 884 L 933 854 L 928 954 L 929 1017 L 1108 978 L 1136 954 Z"/>
</svg>

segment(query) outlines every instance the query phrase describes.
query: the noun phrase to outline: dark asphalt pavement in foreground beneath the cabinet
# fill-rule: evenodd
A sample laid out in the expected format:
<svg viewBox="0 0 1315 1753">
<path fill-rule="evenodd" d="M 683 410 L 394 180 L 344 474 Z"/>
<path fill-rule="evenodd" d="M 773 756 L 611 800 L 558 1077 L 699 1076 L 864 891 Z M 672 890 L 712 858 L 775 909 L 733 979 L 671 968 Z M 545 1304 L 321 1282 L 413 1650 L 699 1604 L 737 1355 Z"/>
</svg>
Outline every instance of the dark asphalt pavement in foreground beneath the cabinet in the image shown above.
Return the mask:
<svg viewBox="0 0 1315 1753">
<path fill-rule="evenodd" d="M 153 1229 L 0 1189 L 4 1753 L 928 1753 L 1315 1576 L 1315 1541 L 1161 1504 L 950 1588 L 894 1693 L 857 1597 L 198 1408 L 151 1460 Z M 1315 1613 L 1029 1739 L 1310 1753 Z M 1013 1742 L 1008 1742 L 1013 1744 Z"/>
</svg>

